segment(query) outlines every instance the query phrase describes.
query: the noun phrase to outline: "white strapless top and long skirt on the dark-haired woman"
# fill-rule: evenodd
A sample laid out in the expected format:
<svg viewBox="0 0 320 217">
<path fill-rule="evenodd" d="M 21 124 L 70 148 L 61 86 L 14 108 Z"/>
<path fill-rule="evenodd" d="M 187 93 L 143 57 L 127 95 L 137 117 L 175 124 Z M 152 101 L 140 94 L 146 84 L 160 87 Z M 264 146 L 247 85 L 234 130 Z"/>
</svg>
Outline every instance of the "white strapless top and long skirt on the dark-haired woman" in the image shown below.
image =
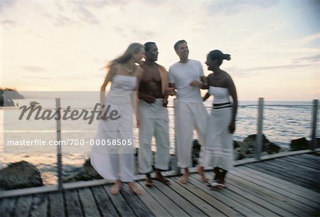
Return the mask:
<svg viewBox="0 0 320 217">
<path fill-rule="evenodd" d="M 212 93 L 214 98 L 216 98 L 216 94 L 218 99 L 224 98 L 226 100 L 225 92 L 228 91 L 228 88 L 210 86 L 209 90 L 211 90 L 210 94 Z M 216 103 L 216 100 L 214 102 Z M 219 100 L 218 102 L 225 101 Z M 233 134 L 229 132 L 233 107 L 230 107 L 230 105 L 221 107 L 214 107 L 208 118 L 203 166 L 213 166 L 213 168 L 219 166 L 228 171 L 233 167 Z"/>
</svg>

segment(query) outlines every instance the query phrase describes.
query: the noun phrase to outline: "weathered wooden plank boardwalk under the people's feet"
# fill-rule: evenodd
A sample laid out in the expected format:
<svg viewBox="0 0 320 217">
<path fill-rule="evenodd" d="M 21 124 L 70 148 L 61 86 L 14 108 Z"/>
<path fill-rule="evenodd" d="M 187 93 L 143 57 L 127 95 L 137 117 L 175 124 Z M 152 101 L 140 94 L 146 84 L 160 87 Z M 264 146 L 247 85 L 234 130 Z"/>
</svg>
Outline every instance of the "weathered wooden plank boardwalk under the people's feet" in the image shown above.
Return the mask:
<svg viewBox="0 0 320 217">
<path fill-rule="evenodd" d="M 300 154 L 236 166 L 221 191 L 210 191 L 198 174 L 188 184 L 172 176 L 171 186 L 138 181 L 139 196 L 126 185 L 112 195 L 105 184 L 4 198 L 0 216 L 320 216 L 319 175 L 319 154 Z"/>
</svg>

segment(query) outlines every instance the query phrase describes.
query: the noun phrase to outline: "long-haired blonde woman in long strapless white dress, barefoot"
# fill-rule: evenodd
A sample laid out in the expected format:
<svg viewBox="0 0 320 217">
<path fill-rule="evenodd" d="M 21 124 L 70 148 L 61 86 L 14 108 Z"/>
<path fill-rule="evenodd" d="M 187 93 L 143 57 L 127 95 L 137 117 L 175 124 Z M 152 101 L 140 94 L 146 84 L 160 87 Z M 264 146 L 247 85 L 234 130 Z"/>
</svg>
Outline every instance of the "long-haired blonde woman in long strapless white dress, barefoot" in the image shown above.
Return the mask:
<svg viewBox="0 0 320 217">
<path fill-rule="evenodd" d="M 127 182 L 134 193 L 141 194 L 142 190 L 134 184 L 134 154 L 129 144 L 132 144 L 132 113 L 134 112 L 134 91 L 139 90 L 139 80 L 143 70 L 136 65 L 144 58 L 144 46 L 132 43 L 123 55 L 107 65 L 109 72 L 100 89 L 102 110 L 116 111 L 117 118 L 100 120 L 97 137 L 91 152 L 91 164 L 105 179 L 114 180 L 110 189 L 112 194 L 119 194 L 122 182 Z M 110 92 L 105 96 L 105 89 L 111 83 Z M 105 106 L 103 106 L 105 105 Z M 109 140 L 108 140 L 109 139 Z M 119 139 L 119 140 L 118 140 Z M 108 142 L 111 145 L 102 145 Z M 112 144 L 120 141 L 122 144 Z M 132 145 L 133 146 L 133 145 Z"/>
</svg>

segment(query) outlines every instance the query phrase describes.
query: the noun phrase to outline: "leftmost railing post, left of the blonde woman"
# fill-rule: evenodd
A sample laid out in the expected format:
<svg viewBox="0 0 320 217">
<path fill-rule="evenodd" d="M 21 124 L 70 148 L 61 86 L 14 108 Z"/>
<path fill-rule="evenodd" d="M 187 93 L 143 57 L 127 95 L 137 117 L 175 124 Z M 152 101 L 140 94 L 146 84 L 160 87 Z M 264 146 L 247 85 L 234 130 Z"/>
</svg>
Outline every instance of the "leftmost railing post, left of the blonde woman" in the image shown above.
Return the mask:
<svg viewBox="0 0 320 217">
<path fill-rule="evenodd" d="M 62 156 L 61 156 L 61 113 L 60 113 L 60 98 L 55 99 L 55 109 L 57 112 L 57 166 L 58 166 L 58 191 L 63 190 L 63 179 L 62 179 Z"/>
</svg>

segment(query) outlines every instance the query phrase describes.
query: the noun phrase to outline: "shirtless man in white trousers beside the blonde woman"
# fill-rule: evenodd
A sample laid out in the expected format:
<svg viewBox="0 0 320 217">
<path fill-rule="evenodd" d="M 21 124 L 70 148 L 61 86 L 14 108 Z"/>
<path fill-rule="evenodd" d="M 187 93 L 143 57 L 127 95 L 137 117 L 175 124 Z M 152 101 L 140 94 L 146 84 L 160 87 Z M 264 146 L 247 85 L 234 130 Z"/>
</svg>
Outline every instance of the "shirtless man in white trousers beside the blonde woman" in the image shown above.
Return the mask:
<svg viewBox="0 0 320 217">
<path fill-rule="evenodd" d="M 170 184 L 161 174 L 161 170 L 169 167 L 169 118 L 166 105 L 168 104 L 168 75 L 166 69 L 156 63 L 158 48 L 156 43 L 144 44 L 146 60 L 142 63 L 144 75 L 139 85 L 139 171 L 146 174 L 146 186 L 153 186 L 150 173 L 152 172 L 151 139 L 156 138 L 156 153 L 154 155 L 155 179 Z"/>
</svg>

